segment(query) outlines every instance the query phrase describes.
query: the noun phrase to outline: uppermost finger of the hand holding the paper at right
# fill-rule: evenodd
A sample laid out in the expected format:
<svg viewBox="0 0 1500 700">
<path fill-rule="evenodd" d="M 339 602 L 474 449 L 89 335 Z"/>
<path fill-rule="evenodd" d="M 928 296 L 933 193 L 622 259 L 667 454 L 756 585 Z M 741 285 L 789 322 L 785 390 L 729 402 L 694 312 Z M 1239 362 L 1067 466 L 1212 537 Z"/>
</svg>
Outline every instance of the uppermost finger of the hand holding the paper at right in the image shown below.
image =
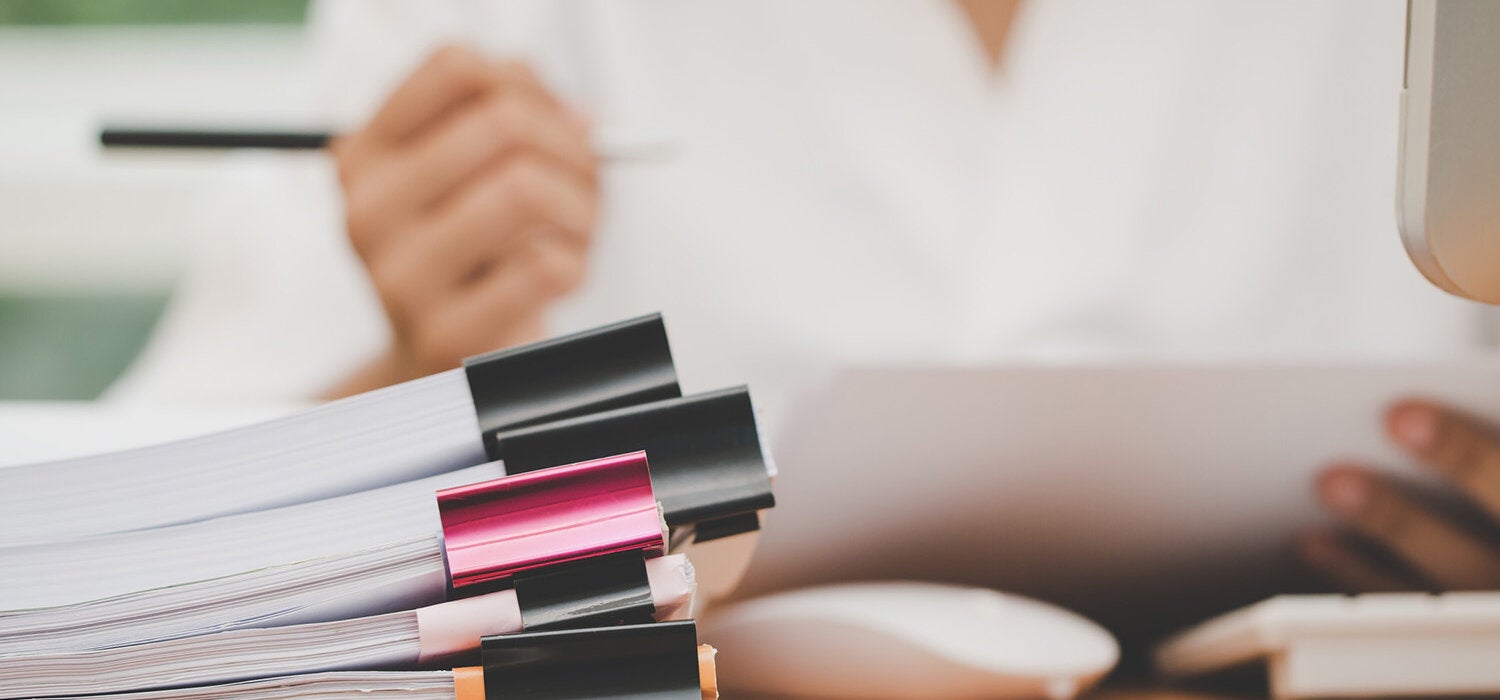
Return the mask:
<svg viewBox="0 0 1500 700">
<path fill-rule="evenodd" d="M 1436 403 L 1408 400 L 1386 412 L 1386 433 L 1500 522 L 1500 442 L 1490 429 Z"/>
</svg>

